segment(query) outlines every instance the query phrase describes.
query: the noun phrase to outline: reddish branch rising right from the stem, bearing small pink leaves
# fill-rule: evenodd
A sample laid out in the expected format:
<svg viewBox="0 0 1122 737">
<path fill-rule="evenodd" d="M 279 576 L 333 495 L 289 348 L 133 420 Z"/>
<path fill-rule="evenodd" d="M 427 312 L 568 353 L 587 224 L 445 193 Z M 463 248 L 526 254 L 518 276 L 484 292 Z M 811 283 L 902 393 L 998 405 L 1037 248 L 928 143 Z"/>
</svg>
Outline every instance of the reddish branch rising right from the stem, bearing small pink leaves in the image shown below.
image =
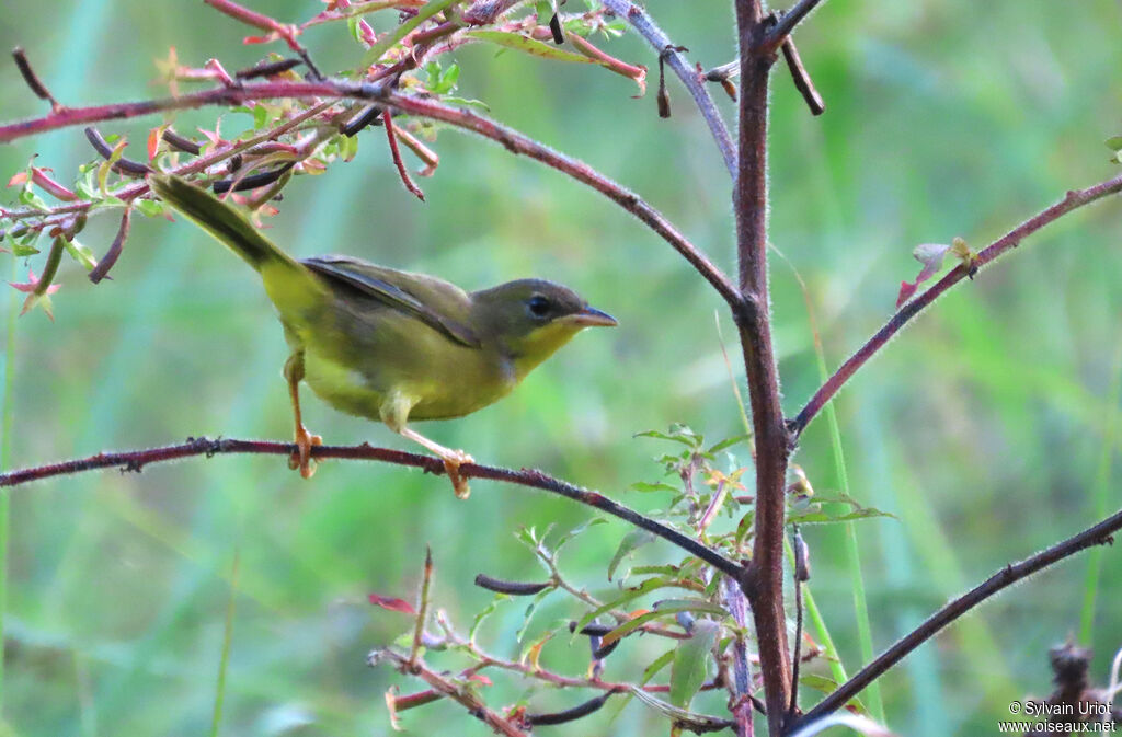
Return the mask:
<svg viewBox="0 0 1122 737">
<path fill-rule="evenodd" d="M 815 396 L 812 396 L 810 400 L 807 402 L 807 405 L 799 411 L 799 414 L 795 415 L 794 420 L 791 420 L 788 423 L 792 437 L 798 437 L 802 431 L 806 430 L 807 425 L 810 424 L 810 421 L 813 420 L 818 413 L 821 412 L 822 407 L 825 407 L 826 404 L 834 398 L 834 395 L 838 393 L 838 389 L 840 389 L 845 383 L 857 372 L 857 369 L 868 362 L 868 359 L 871 359 L 879 350 L 884 348 L 892 337 L 900 332 L 900 329 L 908 324 L 912 317 L 918 315 L 923 311 L 923 308 L 949 291 L 950 287 L 955 286 L 966 277 L 973 278 L 977 269 L 986 266 L 1006 251 L 1017 248 L 1020 242 L 1024 240 L 1024 238 L 1059 219 L 1061 215 L 1119 192 L 1122 192 L 1122 175 L 1106 179 L 1105 182 L 1087 187 L 1086 190 L 1069 191 L 1063 200 L 1036 217 L 1026 220 L 1020 225 L 982 249 L 972 265 L 959 265 L 951 269 L 946 276 L 931 285 L 923 294 L 905 304 L 899 312 L 896 312 L 896 314 L 892 315 L 889 322 L 885 323 L 875 335 L 870 338 L 856 353 L 850 356 L 846 362 L 843 363 L 837 371 L 835 371 L 834 376 L 826 380 L 826 384 L 824 384 L 818 391 L 815 393 Z"/>
</svg>

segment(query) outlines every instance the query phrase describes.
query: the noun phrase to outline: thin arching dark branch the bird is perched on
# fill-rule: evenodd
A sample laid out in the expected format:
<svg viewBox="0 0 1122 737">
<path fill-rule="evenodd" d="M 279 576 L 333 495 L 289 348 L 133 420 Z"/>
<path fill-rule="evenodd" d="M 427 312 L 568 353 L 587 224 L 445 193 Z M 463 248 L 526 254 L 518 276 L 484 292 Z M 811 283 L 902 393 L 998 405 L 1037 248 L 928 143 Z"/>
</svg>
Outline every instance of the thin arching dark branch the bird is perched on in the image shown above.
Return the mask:
<svg viewBox="0 0 1122 737">
<path fill-rule="evenodd" d="M 149 463 L 160 463 L 181 458 L 195 455 L 212 455 L 241 453 L 259 455 L 291 455 L 296 451 L 293 443 L 277 443 L 261 440 L 210 440 L 208 437 L 188 437 L 187 442 L 178 445 L 165 445 L 163 448 L 151 448 L 148 450 L 123 451 L 120 453 L 98 453 L 89 458 L 63 461 L 48 466 L 20 469 L 0 473 L 0 488 L 19 486 L 30 481 L 38 481 L 56 476 L 80 473 L 82 471 L 93 471 L 104 468 L 119 468 L 121 472 L 139 472 Z M 348 460 L 380 461 L 383 463 L 394 463 L 396 466 L 407 466 L 422 469 L 425 473 L 444 473 L 444 463 L 439 458 L 432 455 L 421 455 L 419 453 L 407 453 L 405 451 L 389 448 L 374 448 L 368 443 L 361 445 L 314 445 L 312 446 L 312 458 L 322 460 L 324 458 L 339 458 Z M 636 527 L 642 527 L 663 540 L 666 540 L 678 547 L 681 547 L 691 555 L 703 560 L 717 570 L 738 578 L 742 568 L 738 563 L 725 558 L 715 550 L 702 545 L 698 541 L 683 535 L 677 529 L 672 529 L 650 517 L 644 517 L 640 513 L 617 504 L 598 491 L 590 491 L 579 486 L 555 479 L 535 469 L 507 469 L 494 466 L 481 466 L 479 463 L 463 463 L 460 466 L 460 476 L 466 479 L 489 479 L 491 481 L 503 481 L 532 489 L 541 489 L 550 494 L 557 494 L 574 501 L 595 507 L 609 515 L 619 517 Z"/>
</svg>

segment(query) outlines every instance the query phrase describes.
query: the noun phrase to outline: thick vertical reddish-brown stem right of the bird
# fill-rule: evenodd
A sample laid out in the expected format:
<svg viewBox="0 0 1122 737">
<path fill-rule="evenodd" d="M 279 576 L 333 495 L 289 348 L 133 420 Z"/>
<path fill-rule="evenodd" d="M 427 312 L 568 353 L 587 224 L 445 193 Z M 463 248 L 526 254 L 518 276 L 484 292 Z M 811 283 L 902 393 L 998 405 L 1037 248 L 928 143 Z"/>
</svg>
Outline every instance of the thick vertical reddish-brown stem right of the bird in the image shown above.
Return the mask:
<svg viewBox="0 0 1122 737">
<path fill-rule="evenodd" d="M 791 661 L 783 609 L 784 479 L 788 433 L 779 402 L 767 296 L 767 80 L 775 54 L 756 49 L 770 25 L 760 0 L 736 0 L 741 52 L 739 164 L 733 206 L 739 288 L 746 308 L 736 315 L 756 441 L 756 520 L 752 564 L 744 577 L 760 647 L 767 731 L 783 728 L 790 703 Z"/>
</svg>

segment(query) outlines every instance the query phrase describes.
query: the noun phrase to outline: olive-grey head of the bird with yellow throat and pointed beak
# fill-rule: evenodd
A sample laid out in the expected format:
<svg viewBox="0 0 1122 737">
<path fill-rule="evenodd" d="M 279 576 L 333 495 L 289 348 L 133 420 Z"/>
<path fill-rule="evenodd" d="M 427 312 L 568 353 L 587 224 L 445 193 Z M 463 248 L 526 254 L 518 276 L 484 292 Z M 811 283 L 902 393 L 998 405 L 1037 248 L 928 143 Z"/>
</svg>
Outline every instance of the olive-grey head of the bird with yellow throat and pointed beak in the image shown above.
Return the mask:
<svg viewBox="0 0 1122 737">
<path fill-rule="evenodd" d="M 588 306 L 576 292 L 544 279 L 518 279 L 471 295 L 476 324 L 511 356 L 518 378 L 585 328 L 616 320 Z"/>
</svg>

